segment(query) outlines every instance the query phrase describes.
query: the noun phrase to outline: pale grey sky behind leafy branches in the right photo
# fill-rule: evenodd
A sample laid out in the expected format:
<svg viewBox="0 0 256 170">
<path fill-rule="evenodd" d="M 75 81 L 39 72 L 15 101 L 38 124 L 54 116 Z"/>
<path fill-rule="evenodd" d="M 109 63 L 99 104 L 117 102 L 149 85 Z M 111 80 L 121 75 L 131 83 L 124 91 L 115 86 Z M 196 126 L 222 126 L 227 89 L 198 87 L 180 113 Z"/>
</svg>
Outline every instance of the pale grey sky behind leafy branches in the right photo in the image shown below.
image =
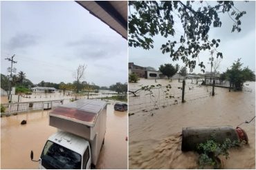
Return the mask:
<svg viewBox="0 0 256 170">
<path fill-rule="evenodd" d="M 214 2 L 208 1 L 208 3 Z M 194 6 L 199 6 L 199 2 L 195 2 Z M 220 13 L 222 21 L 221 28 L 210 29 L 210 40 L 221 39 L 221 43 L 219 43 L 217 50 L 223 53 L 223 59 L 218 71 L 226 71 L 227 67 L 230 67 L 238 58 L 241 58 L 244 67 L 248 66 L 251 70 L 255 71 L 255 1 L 249 1 L 248 3 L 245 3 L 244 1 L 235 1 L 235 6 L 240 11 L 246 11 L 246 14 L 241 18 L 241 32 L 231 33 L 232 20 L 227 14 L 222 13 Z M 176 18 L 176 21 L 179 21 L 179 19 Z M 174 28 L 176 28 L 176 36 L 179 36 L 180 39 L 180 36 L 183 34 L 183 28 L 179 24 L 175 25 Z M 173 37 L 170 39 L 171 41 L 174 40 Z M 129 47 L 129 62 L 134 62 L 134 64 L 144 67 L 151 66 L 156 70 L 158 70 L 158 67 L 164 63 L 172 63 L 173 65 L 178 63 L 183 66 L 184 64 L 181 60 L 174 62 L 170 58 L 170 54 L 162 54 L 160 50 L 161 45 L 166 43 L 167 40 L 168 39 L 161 36 L 155 36 L 154 49 L 152 50 Z M 206 72 L 210 72 L 210 64 L 208 64 L 209 58 L 209 51 L 201 52 L 201 54 L 199 54 L 199 60 L 200 62 L 203 61 Z M 198 63 L 198 59 L 196 59 L 196 69 L 194 72 L 202 73 Z"/>
</svg>

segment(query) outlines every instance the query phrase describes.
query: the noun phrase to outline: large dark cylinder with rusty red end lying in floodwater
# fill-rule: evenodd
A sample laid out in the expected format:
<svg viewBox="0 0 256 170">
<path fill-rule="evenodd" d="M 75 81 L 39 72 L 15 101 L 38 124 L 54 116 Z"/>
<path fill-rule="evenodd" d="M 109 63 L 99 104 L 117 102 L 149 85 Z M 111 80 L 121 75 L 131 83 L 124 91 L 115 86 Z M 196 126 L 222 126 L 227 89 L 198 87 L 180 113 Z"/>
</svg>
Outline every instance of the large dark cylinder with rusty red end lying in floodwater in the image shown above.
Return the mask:
<svg viewBox="0 0 256 170">
<path fill-rule="evenodd" d="M 200 143 L 210 140 L 214 136 L 214 140 L 223 143 L 226 138 L 231 141 L 244 140 L 248 143 L 246 132 L 237 127 L 234 129 L 231 126 L 217 127 L 185 127 L 182 129 L 182 151 L 194 151 Z"/>
</svg>

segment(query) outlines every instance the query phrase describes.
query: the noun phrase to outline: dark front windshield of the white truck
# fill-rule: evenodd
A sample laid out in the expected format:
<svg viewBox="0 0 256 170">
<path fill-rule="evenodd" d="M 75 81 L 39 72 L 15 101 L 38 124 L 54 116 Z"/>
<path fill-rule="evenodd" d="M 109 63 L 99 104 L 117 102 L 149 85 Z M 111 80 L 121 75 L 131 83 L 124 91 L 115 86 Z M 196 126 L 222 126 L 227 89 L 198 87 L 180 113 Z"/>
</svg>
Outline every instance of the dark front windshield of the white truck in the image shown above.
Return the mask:
<svg viewBox="0 0 256 170">
<path fill-rule="evenodd" d="M 75 151 L 48 140 L 42 152 L 42 166 L 46 169 L 81 169 L 81 156 Z"/>
</svg>

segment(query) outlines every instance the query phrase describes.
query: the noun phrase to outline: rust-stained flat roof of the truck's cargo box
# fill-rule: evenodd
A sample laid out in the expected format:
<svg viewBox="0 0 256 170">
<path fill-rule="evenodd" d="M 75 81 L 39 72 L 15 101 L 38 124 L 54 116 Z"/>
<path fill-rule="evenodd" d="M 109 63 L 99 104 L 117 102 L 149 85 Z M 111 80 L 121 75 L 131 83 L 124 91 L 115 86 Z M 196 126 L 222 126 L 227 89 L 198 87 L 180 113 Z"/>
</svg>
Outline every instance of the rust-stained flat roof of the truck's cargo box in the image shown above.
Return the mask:
<svg viewBox="0 0 256 170">
<path fill-rule="evenodd" d="M 81 99 L 73 103 L 60 105 L 51 111 L 49 116 L 64 118 L 92 127 L 105 105 L 106 103 L 101 100 Z"/>
</svg>

